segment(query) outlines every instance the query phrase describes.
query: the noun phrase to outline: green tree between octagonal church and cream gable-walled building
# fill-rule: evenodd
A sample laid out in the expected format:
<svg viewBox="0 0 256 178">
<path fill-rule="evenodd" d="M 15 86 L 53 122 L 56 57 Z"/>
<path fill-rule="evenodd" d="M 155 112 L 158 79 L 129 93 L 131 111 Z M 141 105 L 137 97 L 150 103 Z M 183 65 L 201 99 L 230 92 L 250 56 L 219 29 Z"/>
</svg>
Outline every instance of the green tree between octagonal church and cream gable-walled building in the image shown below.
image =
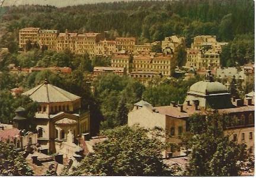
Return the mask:
<svg viewBox="0 0 256 178">
<path fill-rule="evenodd" d="M 101 123 L 102 129 L 114 128 L 121 124 L 117 116 L 121 98 L 126 101 L 127 109 L 132 109 L 133 104 L 142 97 L 142 84 L 127 76 L 121 77 L 114 73 L 101 75 L 92 85 L 95 89 L 94 96 L 100 103 L 101 113 L 104 116 L 104 122 Z"/>
</svg>

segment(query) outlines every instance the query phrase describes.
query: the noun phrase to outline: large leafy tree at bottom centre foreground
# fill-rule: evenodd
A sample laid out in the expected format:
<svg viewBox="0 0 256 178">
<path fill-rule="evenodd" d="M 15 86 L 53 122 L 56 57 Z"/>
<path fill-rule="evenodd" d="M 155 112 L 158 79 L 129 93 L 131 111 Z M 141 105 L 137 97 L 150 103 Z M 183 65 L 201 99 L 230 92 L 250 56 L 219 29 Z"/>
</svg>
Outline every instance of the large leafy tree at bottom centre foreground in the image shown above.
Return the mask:
<svg viewBox="0 0 256 178">
<path fill-rule="evenodd" d="M 162 160 L 167 145 L 159 134 L 137 126 L 107 130 L 107 140 L 94 146 L 94 153 L 82 160 L 72 176 L 172 176 L 174 170 Z"/>
</svg>

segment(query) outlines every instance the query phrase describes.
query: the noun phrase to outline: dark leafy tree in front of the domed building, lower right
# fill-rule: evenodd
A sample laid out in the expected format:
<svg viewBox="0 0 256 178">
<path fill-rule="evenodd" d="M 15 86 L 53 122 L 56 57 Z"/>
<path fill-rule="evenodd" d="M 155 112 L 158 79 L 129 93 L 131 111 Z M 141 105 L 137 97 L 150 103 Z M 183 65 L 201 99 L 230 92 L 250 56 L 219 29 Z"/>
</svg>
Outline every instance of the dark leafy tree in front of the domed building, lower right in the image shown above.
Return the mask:
<svg viewBox="0 0 256 178">
<path fill-rule="evenodd" d="M 192 115 L 188 119 L 190 134 L 183 145 L 191 148 L 187 175 L 189 176 L 238 176 L 241 164 L 247 160 L 246 145 L 229 140 L 223 131 L 235 124 L 229 116 L 211 114 Z"/>
</svg>

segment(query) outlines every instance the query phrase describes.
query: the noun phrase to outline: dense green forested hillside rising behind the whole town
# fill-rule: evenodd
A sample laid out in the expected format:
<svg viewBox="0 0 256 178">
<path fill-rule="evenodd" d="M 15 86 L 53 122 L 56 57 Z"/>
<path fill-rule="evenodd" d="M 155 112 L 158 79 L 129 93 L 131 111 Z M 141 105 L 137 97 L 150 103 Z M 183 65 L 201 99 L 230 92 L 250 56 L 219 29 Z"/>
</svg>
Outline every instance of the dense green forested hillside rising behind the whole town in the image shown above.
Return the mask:
<svg viewBox="0 0 256 178">
<path fill-rule="evenodd" d="M 4 7 L 2 24 L 17 38 L 24 27 L 60 31 L 103 32 L 110 37 L 134 36 L 144 43 L 172 34 L 217 35 L 232 41 L 236 35 L 254 34 L 252 0 L 131 1 L 78 5 L 65 8 L 24 5 Z"/>
</svg>

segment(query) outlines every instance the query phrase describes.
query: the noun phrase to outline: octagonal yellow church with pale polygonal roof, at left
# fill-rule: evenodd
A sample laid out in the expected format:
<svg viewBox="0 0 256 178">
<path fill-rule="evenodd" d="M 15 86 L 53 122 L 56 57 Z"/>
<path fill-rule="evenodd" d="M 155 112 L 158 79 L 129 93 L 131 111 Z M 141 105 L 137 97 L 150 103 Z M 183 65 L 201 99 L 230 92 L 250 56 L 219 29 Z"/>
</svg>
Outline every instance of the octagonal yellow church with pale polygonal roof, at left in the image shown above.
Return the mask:
<svg viewBox="0 0 256 178">
<path fill-rule="evenodd" d="M 75 139 L 78 139 L 78 135 L 89 132 L 89 112 L 79 113 L 79 96 L 50 85 L 47 80 L 23 95 L 39 103 L 34 118 L 37 139 L 38 143 L 51 153 L 60 150 L 68 131 L 72 131 Z"/>
</svg>

